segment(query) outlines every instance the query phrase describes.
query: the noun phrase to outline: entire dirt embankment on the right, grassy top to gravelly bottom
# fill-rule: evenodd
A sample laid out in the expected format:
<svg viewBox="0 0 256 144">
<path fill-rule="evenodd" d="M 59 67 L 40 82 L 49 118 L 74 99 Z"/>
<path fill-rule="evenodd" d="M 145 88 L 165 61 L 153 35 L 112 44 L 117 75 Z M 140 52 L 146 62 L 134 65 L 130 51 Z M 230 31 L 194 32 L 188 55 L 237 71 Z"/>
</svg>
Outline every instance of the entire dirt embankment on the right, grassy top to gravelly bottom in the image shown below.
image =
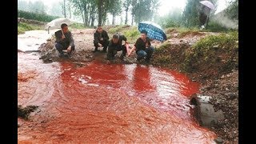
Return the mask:
<svg viewBox="0 0 256 144">
<path fill-rule="evenodd" d="M 200 50 L 193 47 L 194 44 L 206 35 L 216 34 L 179 34 L 177 30 L 171 30 L 169 35 L 170 39 L 155 51 L 152 64 L 179 70 L 200 82 L 200 94 L 211 96 L 214 109 L 222 110 L 225 117 L 210 129 L 225 143 L 238 143 L 238 40 L 234 42 L 234 39 L 221 35 L 212 37 L 200 41 Z M 218 38 L 225 42 L 207 46 Z"/>
</svg>

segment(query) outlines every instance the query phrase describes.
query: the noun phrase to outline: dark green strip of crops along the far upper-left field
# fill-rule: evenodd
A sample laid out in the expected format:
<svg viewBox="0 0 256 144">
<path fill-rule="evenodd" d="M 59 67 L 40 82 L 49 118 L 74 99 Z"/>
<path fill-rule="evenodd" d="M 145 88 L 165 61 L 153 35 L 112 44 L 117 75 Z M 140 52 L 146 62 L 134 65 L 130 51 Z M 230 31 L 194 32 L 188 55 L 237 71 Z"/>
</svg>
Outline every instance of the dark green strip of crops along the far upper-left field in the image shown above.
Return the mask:
<svg viewBox="0 0 256 144">
<path fill-rule="evenodd" d="M 41 22 L 50 22 L 59 17 L 18 10 L 18 18 L 34 19 Z"/>
</svg>

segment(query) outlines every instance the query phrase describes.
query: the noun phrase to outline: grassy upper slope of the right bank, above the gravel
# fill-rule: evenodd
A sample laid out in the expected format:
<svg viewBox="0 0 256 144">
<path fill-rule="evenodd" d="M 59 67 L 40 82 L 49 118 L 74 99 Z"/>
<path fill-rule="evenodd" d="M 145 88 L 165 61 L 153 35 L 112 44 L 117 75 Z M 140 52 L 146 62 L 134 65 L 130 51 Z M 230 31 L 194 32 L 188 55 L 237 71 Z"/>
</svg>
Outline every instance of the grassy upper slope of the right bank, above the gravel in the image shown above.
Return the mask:
<svg viewBox="0 0 256 144">
<path fill-rule="evenodd" d="M 202 73 L 204 77 L 238 70 L 238 32 L 206 36 L 193 46 L 164 42 L 156 49 L 153 64 L 175 67 L 185 73 Z"/>
</svg>

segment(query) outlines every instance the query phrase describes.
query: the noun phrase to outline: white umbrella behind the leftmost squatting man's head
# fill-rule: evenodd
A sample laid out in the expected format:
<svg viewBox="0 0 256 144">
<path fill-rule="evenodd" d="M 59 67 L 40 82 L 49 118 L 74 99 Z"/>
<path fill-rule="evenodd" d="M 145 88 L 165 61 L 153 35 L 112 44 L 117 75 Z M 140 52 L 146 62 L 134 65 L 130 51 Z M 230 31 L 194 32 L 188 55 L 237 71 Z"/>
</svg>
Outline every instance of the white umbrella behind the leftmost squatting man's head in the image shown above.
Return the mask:
<svg viewBox="0 0 256 144">
<path fill-rule="evenodd" d="M 45 29 L 60 29 L 62 23 L 66 23 L 69 26 L 74 22 L 71 22 L 68 18 L 57 18 L 52 20 L 51 22 L 48 22 L 45 26 Z"/>
</svg>

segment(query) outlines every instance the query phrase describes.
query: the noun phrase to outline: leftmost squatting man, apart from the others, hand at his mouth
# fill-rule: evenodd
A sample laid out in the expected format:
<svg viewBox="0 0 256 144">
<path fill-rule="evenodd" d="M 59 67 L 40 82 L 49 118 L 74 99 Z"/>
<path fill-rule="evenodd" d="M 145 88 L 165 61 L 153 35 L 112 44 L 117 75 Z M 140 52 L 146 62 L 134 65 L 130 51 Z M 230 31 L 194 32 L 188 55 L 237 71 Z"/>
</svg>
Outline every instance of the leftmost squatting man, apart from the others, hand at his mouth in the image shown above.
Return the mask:
<svg viewBox="0 0 256 144">
<path fill-rule="evenodd" d="M 66 23 L 62 23 L 61 28 L 62 30 L 55 32 L 55 47 L 58 50 L 59 57 L 64 56 L 63 50 L 67 50 L 68 54 L 71 54 L 72 50 L 74 50 L 74 39 Z"/>
</svg>

